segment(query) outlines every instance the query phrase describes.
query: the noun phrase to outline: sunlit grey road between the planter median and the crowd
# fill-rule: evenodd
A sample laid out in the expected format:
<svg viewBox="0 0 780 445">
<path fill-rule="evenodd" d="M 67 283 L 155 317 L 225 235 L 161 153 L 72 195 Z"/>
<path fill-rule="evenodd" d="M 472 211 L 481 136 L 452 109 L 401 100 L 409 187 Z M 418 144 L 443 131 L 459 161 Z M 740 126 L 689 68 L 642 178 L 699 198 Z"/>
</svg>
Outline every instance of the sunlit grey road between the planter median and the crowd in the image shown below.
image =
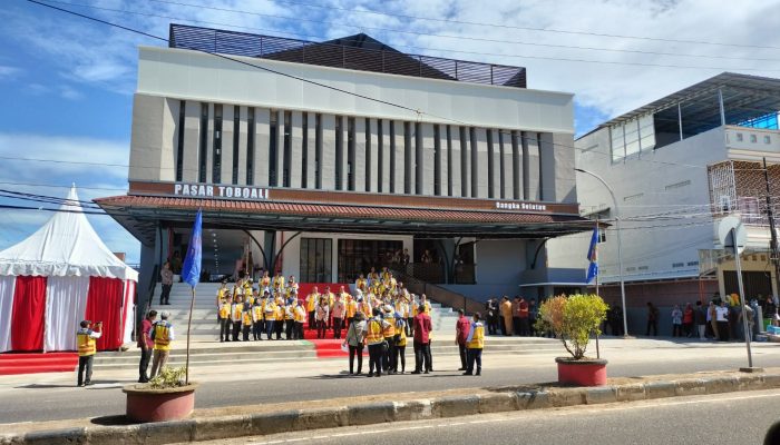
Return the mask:
<svg viewBox="0 0 780 445">
<path fill-rule="evenodd" d="M 632 346 L 634 345 L 634 346 Z M 657 347 L 653 347 L 656 345 Z M 606 342 L 612 377 L 670 373 L 735 369 L 745 366 L 743 346 L 692 347 L 636 340 L 634 344 Z M 410 357 L 409 357 L 410 358 Z M 757 348 L 757 366 L 780 367 L 777 348 Z M 235 366 L 198 369 L 203 384 L 196 407 L 212 408 L 260 403 L 316 400 L 399 392 L 423 392 L 455 387 L 486 387 L 554 382 L 557 378 L 553 356 L 491 356 L 486 358 L 481 377 L 464 377 L 455 370 L 457 357 L 435 358 L 430 375 L 383 376 L 381 379 L 340 374 L 343 360 L 279 364 L 276 369 L 242 372 Z M 133 369 L 95 375 L 96 386 L 74 387 L 71 373 L 9 376 L 0 378 L 0 423 L 56 421 L 124 414 L 125 396 L 120 386 L 131 383 Z"/>
</svg>

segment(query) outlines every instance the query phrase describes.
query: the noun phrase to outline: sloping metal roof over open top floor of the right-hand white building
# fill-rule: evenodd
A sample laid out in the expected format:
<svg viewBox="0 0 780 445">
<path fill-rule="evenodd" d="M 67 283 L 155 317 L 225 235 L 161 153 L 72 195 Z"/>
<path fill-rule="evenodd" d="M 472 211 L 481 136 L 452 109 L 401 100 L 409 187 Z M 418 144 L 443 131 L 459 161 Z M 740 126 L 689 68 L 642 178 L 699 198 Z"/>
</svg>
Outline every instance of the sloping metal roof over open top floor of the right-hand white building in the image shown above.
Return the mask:
<svg viewBox="0 0 780 445">
<path fill-rule="evenodd" d="M 723 95 L 727 125 L 738 125 L 780 110 L 780 79 L 722 72 L 610 119 L 598 128 L 655 113 L 656 132 L 677 132 L 680 111 L 685 134 L 703 132 L 721 126 L 719 90 Z"/>
</svg>

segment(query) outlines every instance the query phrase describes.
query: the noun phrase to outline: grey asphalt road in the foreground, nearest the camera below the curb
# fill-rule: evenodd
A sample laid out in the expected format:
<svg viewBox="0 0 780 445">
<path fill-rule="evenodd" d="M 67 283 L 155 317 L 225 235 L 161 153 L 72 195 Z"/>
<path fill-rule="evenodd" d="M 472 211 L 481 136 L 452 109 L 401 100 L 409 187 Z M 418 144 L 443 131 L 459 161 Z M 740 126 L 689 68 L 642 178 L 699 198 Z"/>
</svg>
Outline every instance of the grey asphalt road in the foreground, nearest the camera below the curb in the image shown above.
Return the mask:
<svg viewBox="0 0 780 445">
<path fill-rule="evenodd" d="M 538 409 L 205 442 L 232 444 L 761 444 L 780 390 Z"/>
</svg>

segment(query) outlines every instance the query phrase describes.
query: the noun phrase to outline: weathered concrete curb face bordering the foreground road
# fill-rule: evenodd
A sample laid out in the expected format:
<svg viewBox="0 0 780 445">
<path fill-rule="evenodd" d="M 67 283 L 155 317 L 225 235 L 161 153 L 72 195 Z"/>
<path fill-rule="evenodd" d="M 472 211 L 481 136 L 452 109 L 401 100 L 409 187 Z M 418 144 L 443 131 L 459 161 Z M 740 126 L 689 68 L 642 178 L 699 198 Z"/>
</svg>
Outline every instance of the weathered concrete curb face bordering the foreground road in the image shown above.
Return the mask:
<svg viewBox="0 0 780 445">
<path fill-rule="evenodd" d="M 597 405 L 780 387 L 780 374 L 654 380 L 599 387 L 517 389 L 406 402 L 376 402 L 315 409 L 194 418 L 126 426 L 89 426 L 0 435 L 0 445 L 168 444 L 218 438 L 432 419 L 474 414 Z"/>
</svg>

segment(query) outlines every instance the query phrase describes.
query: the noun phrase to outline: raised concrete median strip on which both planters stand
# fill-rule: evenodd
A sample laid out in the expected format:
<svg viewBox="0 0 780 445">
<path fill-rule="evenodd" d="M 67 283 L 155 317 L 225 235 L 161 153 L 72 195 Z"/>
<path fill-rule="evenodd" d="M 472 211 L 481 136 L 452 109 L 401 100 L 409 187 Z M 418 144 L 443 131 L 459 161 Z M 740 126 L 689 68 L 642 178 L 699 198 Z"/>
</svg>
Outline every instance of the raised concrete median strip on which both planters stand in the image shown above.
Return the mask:
<svg viewBox="0 0 780 445">
<path fill-rule="evenodd" d="M 166 444 L 778 387 L 780 367 L 754 374 L 708 372 L 611 378 L 607 386 L 593 388 L 540 383 L 394 393 L 392 399 L 377 395 L 196 409 L 189 419 L 159 424 L 129 425 L 124 416 L 6 424 L 0 444 Z"/>
</svg>

